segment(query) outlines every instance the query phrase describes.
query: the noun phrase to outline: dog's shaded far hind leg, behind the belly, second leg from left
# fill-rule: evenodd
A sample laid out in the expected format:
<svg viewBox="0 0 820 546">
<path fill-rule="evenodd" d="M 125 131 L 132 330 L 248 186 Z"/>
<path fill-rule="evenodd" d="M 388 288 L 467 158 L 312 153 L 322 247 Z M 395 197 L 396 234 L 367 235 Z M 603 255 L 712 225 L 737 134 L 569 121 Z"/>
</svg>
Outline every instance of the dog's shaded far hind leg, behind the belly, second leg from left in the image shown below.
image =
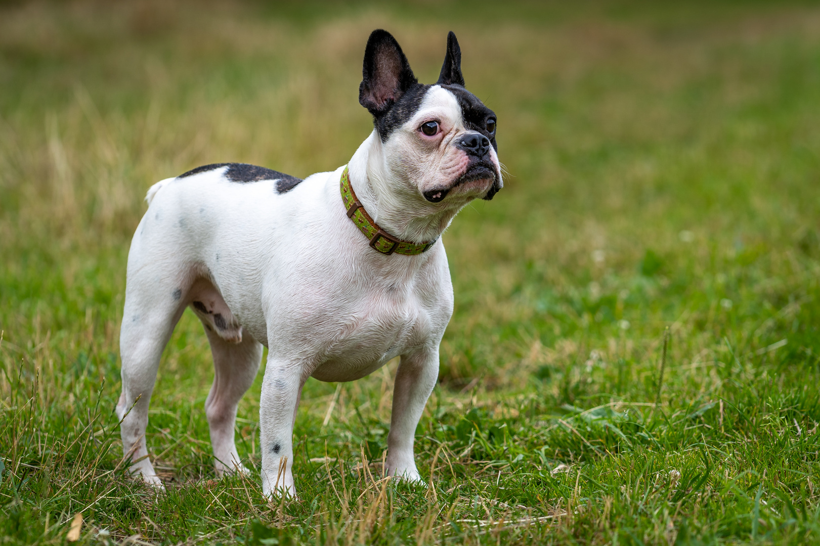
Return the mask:
<svg viewBox="0 0 820 546">
<path fill-rule="evenodd" d="M 222 339 L 207 322 L 203 321 L 203 325 L 213 354 L 213 385 L 205 401 L 205 414 L 211 429 L 216 474 L 235 470 L 248 472 L 239 463 L 234 424 L 239 398 L 253 384 L 262 362 L 262 344 L 248 333 L 241 336 L 239 343 L 231 343 Z"/>
</svg>

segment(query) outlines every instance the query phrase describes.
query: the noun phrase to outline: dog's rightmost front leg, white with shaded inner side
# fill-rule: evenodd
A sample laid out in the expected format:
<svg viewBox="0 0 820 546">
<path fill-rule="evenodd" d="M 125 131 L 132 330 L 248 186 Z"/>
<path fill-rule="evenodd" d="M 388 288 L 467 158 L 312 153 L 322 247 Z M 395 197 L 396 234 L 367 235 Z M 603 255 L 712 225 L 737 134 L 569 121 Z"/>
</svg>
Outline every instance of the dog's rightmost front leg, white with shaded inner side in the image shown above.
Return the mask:
<svg viewBox="0 0 820 546">
<path fill-rule="evenodd" d="M 387 437 L 387 474 L 421 481 L 413 456 L 416 426 L 439 376 L 439 348 L 403 355 L 393 387 L 393 414 Z"/>
</svg>

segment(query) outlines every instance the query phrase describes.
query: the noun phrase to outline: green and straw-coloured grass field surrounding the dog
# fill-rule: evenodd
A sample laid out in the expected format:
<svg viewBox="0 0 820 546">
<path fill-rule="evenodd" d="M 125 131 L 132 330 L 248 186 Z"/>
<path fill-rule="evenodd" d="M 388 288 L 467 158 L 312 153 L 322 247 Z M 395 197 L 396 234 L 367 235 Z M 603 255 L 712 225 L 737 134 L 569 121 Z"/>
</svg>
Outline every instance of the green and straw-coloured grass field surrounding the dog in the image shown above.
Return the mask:
<svg viewBox="0 0 820 546">
<path fill-rule="evenodd" d="M 216 480 L 186 312 L 155 496 L 113 414 L 145 190 L 211 162 L 344 164 L 378 26 L 422 81 L 458 34 L 511 173 L 444 235 L 429 485 L 380 480 L 395 363 L 308 382 L 298 501 Z M 820 541 L 818 66 L 808 3 L 0 5 L 3 544 L 62 544 L 78 512 L 80 544 Z M 253 467 L 261 378 L 237 425 Z"/>
</svg>

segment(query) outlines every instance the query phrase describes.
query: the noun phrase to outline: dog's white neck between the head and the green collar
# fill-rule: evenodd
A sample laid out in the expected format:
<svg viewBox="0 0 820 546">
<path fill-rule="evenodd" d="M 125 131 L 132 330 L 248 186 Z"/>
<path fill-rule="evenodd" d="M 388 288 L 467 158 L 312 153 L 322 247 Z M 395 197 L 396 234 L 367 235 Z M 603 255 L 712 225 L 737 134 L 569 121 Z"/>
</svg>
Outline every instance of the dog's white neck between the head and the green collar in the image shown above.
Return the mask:
<svg viewBox="0 0 820 546">
<path fill-rule="evenodd" d="M 396 239 L 426 243 L 447 229 L 459 208 L 436 207 L 423 200 L 407 180 L 396 180 L 385 162 L 376 130 L 348 163 L 350 184 L 371 218 Z"/>
</svg>

